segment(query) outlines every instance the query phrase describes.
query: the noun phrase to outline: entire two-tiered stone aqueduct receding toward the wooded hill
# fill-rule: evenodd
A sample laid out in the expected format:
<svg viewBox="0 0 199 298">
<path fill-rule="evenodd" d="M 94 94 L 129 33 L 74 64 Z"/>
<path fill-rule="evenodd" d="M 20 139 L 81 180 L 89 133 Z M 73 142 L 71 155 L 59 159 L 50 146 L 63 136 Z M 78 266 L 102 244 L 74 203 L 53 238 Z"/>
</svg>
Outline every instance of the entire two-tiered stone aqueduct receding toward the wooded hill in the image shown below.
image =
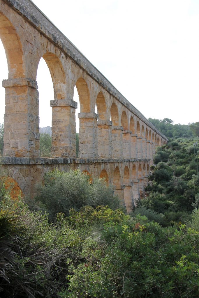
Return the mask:
<svg viewBox="0 0 199 298">
<path fill-rule="evenodd" d="M 131 210 L 147 184 L 155 147 L 167 142 L 158 131 L 30 0 L 0 0 L 0 38 L 7 63 L 4 156 L 24 194 L 48 170 L 81 169 L 104 177 Z M 39 157 L 36 75 L 41 59 L 54 86 L 52 158 Z M 76 158 L 74 87 L 79 95 L 79 158 Z M 97 113 L 95 113 L 95 105 Z M 111 119 L 111 120 L 110 120 Z"/>
</svg>

